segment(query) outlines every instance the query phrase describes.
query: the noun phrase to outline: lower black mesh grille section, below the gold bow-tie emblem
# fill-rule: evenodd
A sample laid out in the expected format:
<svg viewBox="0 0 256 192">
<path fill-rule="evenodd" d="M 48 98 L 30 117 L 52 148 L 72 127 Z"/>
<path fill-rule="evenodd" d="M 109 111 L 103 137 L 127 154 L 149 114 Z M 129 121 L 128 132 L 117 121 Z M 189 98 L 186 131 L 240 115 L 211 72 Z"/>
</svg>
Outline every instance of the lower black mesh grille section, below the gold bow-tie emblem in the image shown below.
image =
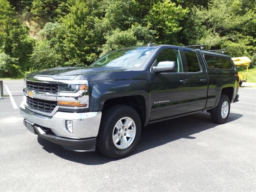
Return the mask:
<svg viewBox="0 0 256 192">
<path fill-rule="evenodd" d="M 34 109 L 45 113 L 51 113 L 54 108 L 57 106 L 56 101 L 47 101 L 47 100 L 41 100 L 36 98 L 27 98 L 27 105 Z"/>
</svg>

